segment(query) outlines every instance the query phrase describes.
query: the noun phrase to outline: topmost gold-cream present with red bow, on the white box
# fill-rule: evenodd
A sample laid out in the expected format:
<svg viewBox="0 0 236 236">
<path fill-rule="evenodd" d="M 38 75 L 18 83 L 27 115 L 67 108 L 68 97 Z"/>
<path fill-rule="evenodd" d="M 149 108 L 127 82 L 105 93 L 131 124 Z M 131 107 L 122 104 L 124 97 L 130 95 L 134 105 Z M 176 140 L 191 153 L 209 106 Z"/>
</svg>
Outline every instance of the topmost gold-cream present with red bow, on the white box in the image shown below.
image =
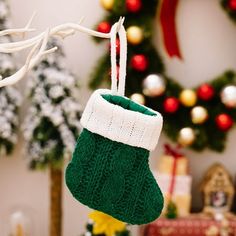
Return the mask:
<svg viewBox="0 0 236 236">
<path fill-rule="evenodd" d="M 158 172 L 162 174 L 172 174 L 174 162 L 176 161 L 176 175 L 188 174 L 188 159 L 179 152 L 174 150 L 168 144 L 165 145 L 165 154 L 161 156 L 158 164 Z"/>
</svg>

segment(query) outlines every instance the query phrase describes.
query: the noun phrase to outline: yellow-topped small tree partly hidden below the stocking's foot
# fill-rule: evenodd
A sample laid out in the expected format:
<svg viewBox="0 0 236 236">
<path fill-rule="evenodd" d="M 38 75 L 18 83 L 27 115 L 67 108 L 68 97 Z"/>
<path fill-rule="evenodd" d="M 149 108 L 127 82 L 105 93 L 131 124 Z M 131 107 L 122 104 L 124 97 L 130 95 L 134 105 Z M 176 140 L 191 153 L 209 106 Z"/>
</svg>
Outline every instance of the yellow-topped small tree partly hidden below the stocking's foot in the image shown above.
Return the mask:
<svg viewBox="0 0 236 236">
<path fill-rule="evenodd" d="M 107 214 L 93 211 L 89 214 L 83 236 L 130 236 L 127 225 Z"/>
</svg>

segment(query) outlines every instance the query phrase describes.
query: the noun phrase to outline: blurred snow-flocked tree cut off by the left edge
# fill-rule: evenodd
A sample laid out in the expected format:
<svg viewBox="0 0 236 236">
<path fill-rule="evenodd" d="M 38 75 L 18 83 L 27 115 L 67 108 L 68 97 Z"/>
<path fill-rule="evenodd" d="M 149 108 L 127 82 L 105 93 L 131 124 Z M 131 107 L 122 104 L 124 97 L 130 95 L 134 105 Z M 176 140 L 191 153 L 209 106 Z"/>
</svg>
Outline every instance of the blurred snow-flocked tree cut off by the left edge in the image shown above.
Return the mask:
<svg viewBox="0 0 236 236">
<path fill-rule="evenodd" d="M 0 30 L 9 28 L 9 7 L 0 1 Z M 1 43 L 10 42 L 10 37 L 1 37 Z M 0 75 L 7 77 L 14 73 L 14 58 L 10 54 L 0 54 Z M 0 88 L 0 157 L 10 154 L 17 142 L 18 108 L 21 96 L 14 87 Z"/>
</svg>

